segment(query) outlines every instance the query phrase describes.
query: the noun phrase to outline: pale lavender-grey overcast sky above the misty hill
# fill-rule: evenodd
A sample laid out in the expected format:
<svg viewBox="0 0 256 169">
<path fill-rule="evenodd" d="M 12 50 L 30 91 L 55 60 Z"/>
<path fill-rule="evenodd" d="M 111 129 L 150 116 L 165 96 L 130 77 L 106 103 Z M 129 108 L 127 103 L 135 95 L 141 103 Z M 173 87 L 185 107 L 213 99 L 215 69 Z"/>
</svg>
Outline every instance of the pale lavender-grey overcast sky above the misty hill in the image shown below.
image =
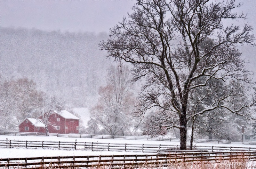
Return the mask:
<svg viewBox="0 0 256 169">
<path fill-rule="evenodd" d="M 256 0 L 237 0 L 244 3 L 237 10 L 248 13 L 248 22 L 256 35 Z M 132 12 L 136 3 L 132 0 L 2 0 L 0 1 L 1 27 L 26 27 L 61 32 L 108 32 L 108 29 Z M 244 58 L 249 60 L 249 68 L 256 73 L 256 47 L 243 46 Z M 255 70 L 254 70 L 255 69 Z M 256 75 L 255 75 L 256 77 Z"/>
</svg>

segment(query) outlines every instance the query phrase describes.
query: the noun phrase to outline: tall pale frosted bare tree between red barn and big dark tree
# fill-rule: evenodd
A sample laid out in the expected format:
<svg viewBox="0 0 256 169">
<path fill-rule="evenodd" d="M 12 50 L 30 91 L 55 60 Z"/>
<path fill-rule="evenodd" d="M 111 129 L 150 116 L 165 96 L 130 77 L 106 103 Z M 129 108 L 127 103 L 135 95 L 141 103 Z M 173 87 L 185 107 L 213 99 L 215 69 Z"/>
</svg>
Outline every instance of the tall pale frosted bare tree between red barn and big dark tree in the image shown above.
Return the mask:
<svg viewBox="0 0 256 169">
<path fill-rule="evenodd" d="M 132 125 L 133 119 L 134 97 L 130 91 L 130 81 L 129 67 L 112 66 L 109 68 L 107 85 L 100 87 L 100 98 L 97 105 L 92 108 L 92 116 L 88 124 L 97 128 L 104 128 L 110 135 L 124 135 L 124 131 Z M 92 131 L 92 126 L 89 128 Z"/>
</svg>

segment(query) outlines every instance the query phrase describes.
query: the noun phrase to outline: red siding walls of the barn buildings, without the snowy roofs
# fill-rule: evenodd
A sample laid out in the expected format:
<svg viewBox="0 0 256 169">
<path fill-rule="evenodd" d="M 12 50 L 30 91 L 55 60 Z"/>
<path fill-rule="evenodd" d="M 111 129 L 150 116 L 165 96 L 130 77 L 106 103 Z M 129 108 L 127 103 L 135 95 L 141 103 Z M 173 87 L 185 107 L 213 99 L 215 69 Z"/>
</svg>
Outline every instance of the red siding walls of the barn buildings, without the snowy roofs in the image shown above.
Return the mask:
<svg viewBox="0 0 256 169">
<path fill-rule="evenodd" d="M 57 118 L 60 118 L 59 122 L 57 121 Z M 55 127 L 49 126 L 48 127 L 49 133 L 59 133 L 59 134 L 76 133 L 77 134 L 78 131 L 79 131 L 79 130 L 76 130 L 76 127 L 79 127 L 79 120 L 66 119 L 66 122 L 65 122 L 64 117 L 62 117 L 58 114 L 52 114 L 49 117 L 49 121 L 52 124 L 55 124 L 55 126 L 60 126 L 60 130 L 56 130 Z M 24 120 L 24 122 L 20 123 L 20 125 L 19 125 L 20 132 L 38 132 L 38 133 L 45 133 L 46 132 L 43 127 L 40 127 L 39 131 L 37 130 L 37 128 L 35 130 L 35 126 L 32 125 L 32 123 L 29 120 L 28 120 L 28 123 L 26 123 L 26 120 Z M 66 129 L 66 132 L 65 132 L 65 124 L 68 127 L 68 129 Z M 25 131 L 25 126 L 29 127 L 28 131 L 27 130 Z"/>
</svg>

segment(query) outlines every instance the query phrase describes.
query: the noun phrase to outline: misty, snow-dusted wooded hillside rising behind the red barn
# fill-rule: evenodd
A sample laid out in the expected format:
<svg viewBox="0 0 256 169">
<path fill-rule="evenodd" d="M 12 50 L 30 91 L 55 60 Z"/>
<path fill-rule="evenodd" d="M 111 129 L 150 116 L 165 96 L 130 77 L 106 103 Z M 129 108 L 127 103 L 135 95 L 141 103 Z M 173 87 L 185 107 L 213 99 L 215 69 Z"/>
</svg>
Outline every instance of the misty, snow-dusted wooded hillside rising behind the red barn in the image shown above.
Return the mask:
<svg viewBox="0 0 256 169">
<path fill-rule="evenodd" d="M 33 79 L 39 90 L 72 107 L 88 107 L 113 64 L 98 47 L 107 38 L 107 33 L 1 28 L 0 72 L 8 80 Z"/>
</svg>

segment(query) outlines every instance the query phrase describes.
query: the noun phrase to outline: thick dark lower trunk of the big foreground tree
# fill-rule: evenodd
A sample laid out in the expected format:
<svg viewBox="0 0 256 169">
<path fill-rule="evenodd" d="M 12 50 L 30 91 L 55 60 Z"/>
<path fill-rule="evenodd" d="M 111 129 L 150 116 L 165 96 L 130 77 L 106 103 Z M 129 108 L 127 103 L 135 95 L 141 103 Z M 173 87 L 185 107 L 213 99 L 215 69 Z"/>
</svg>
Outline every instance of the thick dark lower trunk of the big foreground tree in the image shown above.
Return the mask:
<svg viewBox="0 0 256 169">
<path fill-rule="evenodd" d="M 187 150 L 187 119 L 186 113 L 180 116 L 180 150 Z"/>
</svg>

